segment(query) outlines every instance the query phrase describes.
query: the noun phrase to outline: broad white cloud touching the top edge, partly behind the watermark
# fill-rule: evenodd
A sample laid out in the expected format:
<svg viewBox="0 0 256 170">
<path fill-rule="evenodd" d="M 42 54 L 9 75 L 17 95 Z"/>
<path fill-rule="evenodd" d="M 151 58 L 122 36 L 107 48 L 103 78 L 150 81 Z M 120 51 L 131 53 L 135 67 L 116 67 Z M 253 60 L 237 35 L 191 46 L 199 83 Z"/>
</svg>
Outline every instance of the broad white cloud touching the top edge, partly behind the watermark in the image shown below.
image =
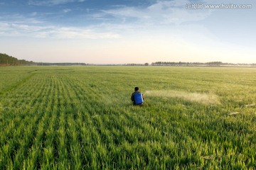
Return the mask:
<svg viewBox="0 0 256 170">
<path fill-rule="evenodd" d="M 147 8 L 121 7 L 102 11 L 116 18 L 130 18 L 140 24 L 181 24 L 187 21 L 201 21 L 210 15 L 206 10 L 188 10 L 189 1 L 157 1 Z"/>
</svg>

